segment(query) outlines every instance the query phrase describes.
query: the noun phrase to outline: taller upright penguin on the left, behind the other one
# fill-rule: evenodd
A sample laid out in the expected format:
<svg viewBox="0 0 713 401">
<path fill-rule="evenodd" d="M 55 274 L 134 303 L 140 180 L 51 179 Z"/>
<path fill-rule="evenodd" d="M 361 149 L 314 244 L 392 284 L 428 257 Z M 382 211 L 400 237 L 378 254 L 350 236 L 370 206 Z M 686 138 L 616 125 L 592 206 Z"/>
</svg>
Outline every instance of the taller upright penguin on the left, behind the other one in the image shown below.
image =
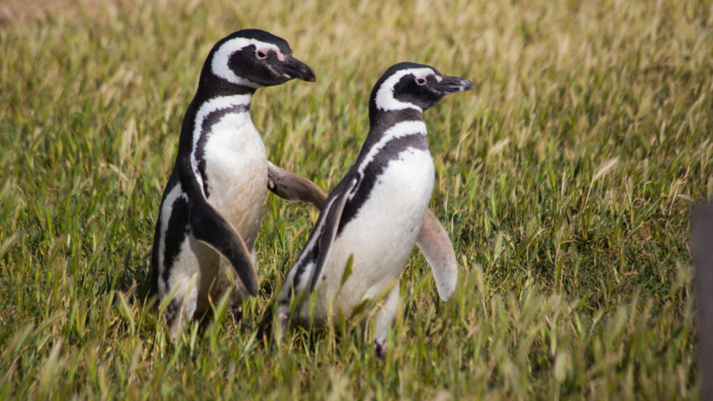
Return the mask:
<svg viewBox="0 0 713 401">
<path fill-rule="evenodd" d="M 319 196 L 311 181 L 267 160 L 250 119 L 257 88 L 293 78 L 314 82 L 314 71 L 292 56 L 287 41 L 258 29 L 221 39 L 202 66 L 151 252 L 149 293 L 167 303 L 173 341 L 226 291 L 239 316 L 242 299 L 257 295 L 255 239 L 268 188 L 294 200 Z"/>
</svg>

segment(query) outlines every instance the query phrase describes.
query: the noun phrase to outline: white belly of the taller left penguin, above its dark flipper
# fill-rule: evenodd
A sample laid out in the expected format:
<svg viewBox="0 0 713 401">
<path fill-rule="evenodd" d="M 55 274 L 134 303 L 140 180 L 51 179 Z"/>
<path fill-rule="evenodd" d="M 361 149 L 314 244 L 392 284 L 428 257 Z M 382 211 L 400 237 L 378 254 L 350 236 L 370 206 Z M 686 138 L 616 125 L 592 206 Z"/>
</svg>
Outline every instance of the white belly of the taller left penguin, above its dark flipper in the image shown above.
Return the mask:
<svg viewBox="0 0 713 401">
<path fill-rule="evenodd" d="M 267 153 L 249 113 L 229 114 L 212 126 L 205 160 L 208 203 L 252 251 L 267 192 Z"/>
</svg>

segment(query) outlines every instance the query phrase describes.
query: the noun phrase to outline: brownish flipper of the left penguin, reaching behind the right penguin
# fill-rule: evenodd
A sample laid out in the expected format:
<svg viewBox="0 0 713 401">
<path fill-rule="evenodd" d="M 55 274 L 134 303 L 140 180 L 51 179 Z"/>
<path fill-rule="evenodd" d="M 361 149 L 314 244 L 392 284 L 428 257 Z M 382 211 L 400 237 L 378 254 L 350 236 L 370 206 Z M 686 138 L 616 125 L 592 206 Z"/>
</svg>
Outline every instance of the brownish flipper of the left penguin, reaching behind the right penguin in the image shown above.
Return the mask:
<svg viewBox="0 0 713 401">
<path fill-rule="evenodd" d="M 309 202 L 319 209 L 324 205 L 324 200 L 327 200 L 327 193 L 317 184 L 279 168 L 270 161 L 267 162 L 267 188 L 280 198 Z"/>
</svg>

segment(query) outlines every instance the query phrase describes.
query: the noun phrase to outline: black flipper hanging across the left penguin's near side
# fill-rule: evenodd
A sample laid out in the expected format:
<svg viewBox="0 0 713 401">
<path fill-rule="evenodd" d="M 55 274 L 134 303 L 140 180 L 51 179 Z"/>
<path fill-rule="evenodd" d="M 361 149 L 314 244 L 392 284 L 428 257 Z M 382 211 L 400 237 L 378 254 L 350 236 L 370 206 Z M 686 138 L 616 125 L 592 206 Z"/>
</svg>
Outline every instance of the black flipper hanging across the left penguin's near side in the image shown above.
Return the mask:
<svg viewBox="0 0 713 401">
<path fill-rule="evenodd" d="M 198 197 L 197 200 L 192 200 L 188 215 L 193 236 L 225 256 L 235 269 L 247 293 L 252 296 L 257 295 L 257 273 L 252 264 L 250 250 L 247 249 L 240 234 L 207 203 L 205 198 Z"/>
</svg>

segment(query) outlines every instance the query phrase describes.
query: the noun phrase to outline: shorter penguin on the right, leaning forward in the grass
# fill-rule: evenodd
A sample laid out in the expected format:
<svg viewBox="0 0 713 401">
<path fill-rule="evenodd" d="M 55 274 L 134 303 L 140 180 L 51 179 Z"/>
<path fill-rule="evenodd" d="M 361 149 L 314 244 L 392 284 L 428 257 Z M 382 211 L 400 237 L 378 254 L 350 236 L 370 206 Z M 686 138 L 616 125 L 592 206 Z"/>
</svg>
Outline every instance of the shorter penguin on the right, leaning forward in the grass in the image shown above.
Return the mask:
<svg viewBox="0 0 713 401">
<path fill-rule="evenodd" d="M 364 146 L 327 197 L 280 289 L 278 343 L 290 321 L 322 326 L 371 310 L 374 352 L 383 357 L 399 305 L 399 277 L 414 245 L 431 265 L 439 297 L 451 297 L 456 260 L 446 230 L 429 210 L 435 171 L 423 113 L 448 93 L 472 88 L 466 78 L 414 63 L 391 66 L 379 78 Z"/>
</svg>

